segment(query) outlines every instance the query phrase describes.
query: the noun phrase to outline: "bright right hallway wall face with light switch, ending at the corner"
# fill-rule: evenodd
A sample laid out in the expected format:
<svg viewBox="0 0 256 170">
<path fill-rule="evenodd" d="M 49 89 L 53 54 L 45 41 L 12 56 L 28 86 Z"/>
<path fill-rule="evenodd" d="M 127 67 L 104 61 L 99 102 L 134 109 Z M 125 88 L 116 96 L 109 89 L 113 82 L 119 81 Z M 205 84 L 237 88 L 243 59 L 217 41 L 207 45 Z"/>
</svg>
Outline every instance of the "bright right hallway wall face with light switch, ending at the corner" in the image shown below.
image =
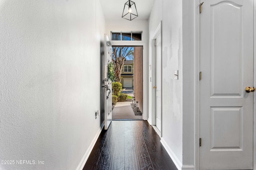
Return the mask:
<svg viewBox="0 0 256 170">
<path fill-rule="evenodd" d="M 156 0 L 155 4 L 149 20 L 149 41 L 162 19 L 161 140 L 182 164 L 182 1 Z M 174 70 L 179 71 L 178 80 L 174 80 Z"/>
</svg>

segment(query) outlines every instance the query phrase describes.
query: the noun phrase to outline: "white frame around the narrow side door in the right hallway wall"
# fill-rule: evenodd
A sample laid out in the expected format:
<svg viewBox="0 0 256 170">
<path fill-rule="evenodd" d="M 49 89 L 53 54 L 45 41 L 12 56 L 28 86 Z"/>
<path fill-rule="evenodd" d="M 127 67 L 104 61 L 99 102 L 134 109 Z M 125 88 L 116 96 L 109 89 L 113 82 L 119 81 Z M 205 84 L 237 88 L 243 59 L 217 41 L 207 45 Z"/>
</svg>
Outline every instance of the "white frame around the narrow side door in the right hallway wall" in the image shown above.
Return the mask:
<svg viewBox="0 0 256 170">
<path fill-rule="evenodd" d="M 158 35 L 161 36 L 161 107 L 162 107 L 162 21 L 160 21 L 158 27 L 156 28 L 156 31 L 153 34 L 153 37 L 151 39 L 152 41 L 152 65 L 150 66 L 152 71 L 152 86 L 155 86 L 154 82 L 156 82 L 156 38 Z M 152 98 L 149 98 L 150 101 L 152 101 L 152 116 L 151 116 L 151 123 L 152 127 L 155 129 L 155 131 L 158 133 L 159 137 L 162 137 L 162 109 L 161 109 L 161 127 L 160 131 L 156 128 L 156 90 L 152 88 L 152 86 L 149 86 L 149 89 L 151 89 L 152 92 Z"/>
</svg>

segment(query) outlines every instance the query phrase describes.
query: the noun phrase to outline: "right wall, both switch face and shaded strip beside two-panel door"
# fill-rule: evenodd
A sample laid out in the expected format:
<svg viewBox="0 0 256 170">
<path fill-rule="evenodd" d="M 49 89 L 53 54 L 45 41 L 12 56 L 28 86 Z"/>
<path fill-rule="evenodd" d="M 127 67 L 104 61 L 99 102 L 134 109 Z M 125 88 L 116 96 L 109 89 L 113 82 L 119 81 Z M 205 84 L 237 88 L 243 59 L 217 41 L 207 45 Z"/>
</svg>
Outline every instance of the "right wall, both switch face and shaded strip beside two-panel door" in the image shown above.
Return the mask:
<svg viewBox="0 0 256 170">
<path fill-rule="evenodd" d="M 194 168 L 194 17 L 194 1 L 156 0 L 149 19 L 149 64 L 151 42 L 162 20 L 161 141 L 178 169 Z M 174 80 L 174 70 L 178 70 L 178 80 Z M 149 121 L 151 115 L 150 111 Z"/>
</svg>

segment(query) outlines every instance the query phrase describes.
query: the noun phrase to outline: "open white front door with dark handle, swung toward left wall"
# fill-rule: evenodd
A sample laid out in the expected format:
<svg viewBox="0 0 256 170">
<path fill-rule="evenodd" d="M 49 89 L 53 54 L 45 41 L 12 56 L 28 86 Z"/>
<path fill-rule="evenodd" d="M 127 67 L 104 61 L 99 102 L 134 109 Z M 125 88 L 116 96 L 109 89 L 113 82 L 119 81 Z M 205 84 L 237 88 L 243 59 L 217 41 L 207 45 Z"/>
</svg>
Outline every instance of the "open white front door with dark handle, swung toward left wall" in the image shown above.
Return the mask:
<svg viewBox="0 0 256 170">
<path fill-rule="evenodd" d="M 104 41 L 104 116 L 105 116 L 105 130 L 108 129 L 112 121 L 112 82 L 108 77 L 108 65 L 112 62 L 112 45 L 109 41 L 108 35 L 105 34 Z"/>
</svg>

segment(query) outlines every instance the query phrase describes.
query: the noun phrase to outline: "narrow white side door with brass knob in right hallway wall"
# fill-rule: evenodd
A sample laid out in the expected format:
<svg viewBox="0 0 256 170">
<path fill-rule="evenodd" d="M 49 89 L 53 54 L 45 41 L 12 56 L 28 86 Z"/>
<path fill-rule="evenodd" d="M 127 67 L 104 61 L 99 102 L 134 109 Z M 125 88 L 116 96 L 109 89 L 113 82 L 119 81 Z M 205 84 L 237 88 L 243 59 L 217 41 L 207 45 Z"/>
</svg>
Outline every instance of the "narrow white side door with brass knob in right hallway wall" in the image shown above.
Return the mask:
<svg viewBox="0 0 256 170">
<path fill-rule="evenodd" d="M 162 82 L 162 72 L 161 72 L 161 62 L 162 62 L 162 52 L 161 52 L 161 35 L 159 34 L 156 38 L 156 127 L 161 132 L 161 82 Z"/>
</svg>

